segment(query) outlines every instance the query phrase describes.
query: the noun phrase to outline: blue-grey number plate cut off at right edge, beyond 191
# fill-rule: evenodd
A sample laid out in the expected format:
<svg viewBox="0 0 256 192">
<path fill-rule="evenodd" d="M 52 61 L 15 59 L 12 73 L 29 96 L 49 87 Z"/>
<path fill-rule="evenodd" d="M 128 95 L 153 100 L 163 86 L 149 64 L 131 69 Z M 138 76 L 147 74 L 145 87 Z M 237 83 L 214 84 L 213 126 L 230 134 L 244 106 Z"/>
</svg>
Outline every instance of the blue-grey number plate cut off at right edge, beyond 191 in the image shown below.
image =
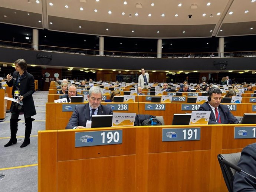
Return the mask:
<svg viewBox="0 0 256 192">
<path fill-rule="evenodd" d="M 253 139 L 256 133 L 255 127 L 234 127 L 234 139 Z"/>
</svg>

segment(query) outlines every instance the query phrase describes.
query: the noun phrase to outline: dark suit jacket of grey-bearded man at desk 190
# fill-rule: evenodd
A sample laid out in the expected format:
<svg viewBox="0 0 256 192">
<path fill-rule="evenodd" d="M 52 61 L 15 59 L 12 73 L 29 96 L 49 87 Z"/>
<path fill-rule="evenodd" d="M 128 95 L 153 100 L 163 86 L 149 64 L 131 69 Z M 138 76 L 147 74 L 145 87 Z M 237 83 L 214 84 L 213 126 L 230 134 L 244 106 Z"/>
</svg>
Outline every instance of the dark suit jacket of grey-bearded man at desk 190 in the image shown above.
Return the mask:
<svg viewBox="0 0 256 192">
<path fill-rule="evenodd" d="M 113 111 L 111 106 L 108 105 L 100 105 L 98 108 L 99 115 L 112 115 Z M 69 119 L 69 123 L 66 126 L 66 129 L 73 129 L 77 126 L 86 126 L 86 121 L 90 120 L 90 107 L 89 103 L 85 105 L 77 105 L 75 110 Z"/>
</svg>

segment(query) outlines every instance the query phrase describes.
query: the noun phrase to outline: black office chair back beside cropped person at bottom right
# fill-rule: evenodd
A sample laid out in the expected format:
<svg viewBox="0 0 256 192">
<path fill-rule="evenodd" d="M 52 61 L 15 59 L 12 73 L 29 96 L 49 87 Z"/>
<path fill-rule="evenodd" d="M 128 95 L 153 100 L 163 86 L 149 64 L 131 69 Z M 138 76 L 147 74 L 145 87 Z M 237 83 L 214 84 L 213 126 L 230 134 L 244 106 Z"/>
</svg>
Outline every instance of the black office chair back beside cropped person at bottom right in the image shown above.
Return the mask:
<svg viewBox="0 0 256 192">
<path fill-rule="evenodd" d="M 234 181 L 234 174 L 236 170 L 230 168 L 229 166 L 225 165 L 222 160 L 225 159 L 228 162 L 237 165 L 241 157 L 241 152 L 239 153 L 230 153 L 230 154 L 219 154 L 218 160 L 220 163 L 220 169 L 226 183 L 227 189 L 229 192 L 233 192 L 233 181 Z"/>
</svg>

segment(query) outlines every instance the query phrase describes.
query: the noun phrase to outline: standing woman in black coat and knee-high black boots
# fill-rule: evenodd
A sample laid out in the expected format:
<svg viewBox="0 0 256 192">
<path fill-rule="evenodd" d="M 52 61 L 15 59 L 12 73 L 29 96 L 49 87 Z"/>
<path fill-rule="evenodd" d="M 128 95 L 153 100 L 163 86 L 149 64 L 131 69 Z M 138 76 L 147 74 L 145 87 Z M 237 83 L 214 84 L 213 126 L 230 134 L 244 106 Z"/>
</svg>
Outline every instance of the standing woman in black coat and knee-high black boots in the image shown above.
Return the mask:
<svg viewBox="0 0 256 192">
<path fill-rule="evenodd" d="M 35 80 L 33 75 L 26 71 L 27 63 L 24 59 L 18 59 L 14 62 L 15 72 L 13 77 L 8 74 L 7 85 L 13 87 L 12 96 L 14 99 L 18 99 L 19 103 L 12 102 L 11 106 L 11 119 L 10 119 L 10 129 L 11 129 L 11 139 L 4 145 L 9 147 L 12 144 L 17 143 L 16 133 L 18 130 L 19 115 L 24 114 L 25 118 L 25 138 L 24 142 L 20 146 L 21 148 L 26 147 L 30 143 L 30 133 L 32 130 L 32 119 L 31 116 L 36 115 L 36 109 L 32 94 L 35 92 Z"/>
</svg>

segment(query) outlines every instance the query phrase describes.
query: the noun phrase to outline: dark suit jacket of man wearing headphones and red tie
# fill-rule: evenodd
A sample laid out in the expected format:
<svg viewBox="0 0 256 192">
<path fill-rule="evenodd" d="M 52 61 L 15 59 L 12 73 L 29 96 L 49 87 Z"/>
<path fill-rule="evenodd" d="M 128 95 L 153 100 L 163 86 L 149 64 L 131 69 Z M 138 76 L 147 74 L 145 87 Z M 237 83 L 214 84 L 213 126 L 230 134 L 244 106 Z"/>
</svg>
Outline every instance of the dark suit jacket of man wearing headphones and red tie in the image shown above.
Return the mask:
<svg viewBox="0 0 256 192">
<path fill-rule="evenodd" d="M 209 106 L 208 102 L 205 102 L 201 107 L 198 109 L 198 111 L 210 111 L 210 119 L 208 124 L 237 124 L 239 123 L 239 120 L 234 117 L 234 115 L 230 112 L 229 108 L 226 105 L 219 105 L 218 107 L 219 113 L 220 113 L 220 120 L 221 123 L 216 122 L 215 113 L 213 113 L 213 110 L 211 110 L 211 107 Z"/>
</svg>

